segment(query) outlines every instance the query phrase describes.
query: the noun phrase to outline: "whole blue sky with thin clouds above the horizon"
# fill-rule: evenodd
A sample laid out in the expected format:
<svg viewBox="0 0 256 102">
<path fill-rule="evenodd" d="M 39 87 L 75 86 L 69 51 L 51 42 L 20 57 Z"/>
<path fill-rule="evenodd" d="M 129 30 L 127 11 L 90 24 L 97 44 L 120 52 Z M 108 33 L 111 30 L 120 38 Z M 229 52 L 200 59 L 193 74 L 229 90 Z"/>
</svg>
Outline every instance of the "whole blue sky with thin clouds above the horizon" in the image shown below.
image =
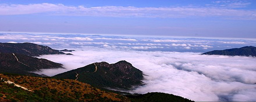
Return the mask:
<svg viewBox="0 0 256 102">
<path fill-rule="evenodd" d="M 256 38 L 254 0 L 0 0 L 0 32 Z"/>
</svg>

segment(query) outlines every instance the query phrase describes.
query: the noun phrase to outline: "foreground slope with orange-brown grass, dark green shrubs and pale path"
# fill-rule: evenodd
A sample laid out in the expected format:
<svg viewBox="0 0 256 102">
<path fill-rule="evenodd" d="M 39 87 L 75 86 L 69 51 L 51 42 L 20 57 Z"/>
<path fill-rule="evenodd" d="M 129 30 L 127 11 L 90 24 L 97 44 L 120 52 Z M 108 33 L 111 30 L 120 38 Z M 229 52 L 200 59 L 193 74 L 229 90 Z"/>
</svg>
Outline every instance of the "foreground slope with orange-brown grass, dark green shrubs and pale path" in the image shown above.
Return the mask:
<svg viewBox="0 0 256 102">
<path fill-rule="evenodd" d="M 191 101 L 173 94 L 151 92 L 120 95 L 70 79 L 0 74 L 1 101 Z"/>
</svg>

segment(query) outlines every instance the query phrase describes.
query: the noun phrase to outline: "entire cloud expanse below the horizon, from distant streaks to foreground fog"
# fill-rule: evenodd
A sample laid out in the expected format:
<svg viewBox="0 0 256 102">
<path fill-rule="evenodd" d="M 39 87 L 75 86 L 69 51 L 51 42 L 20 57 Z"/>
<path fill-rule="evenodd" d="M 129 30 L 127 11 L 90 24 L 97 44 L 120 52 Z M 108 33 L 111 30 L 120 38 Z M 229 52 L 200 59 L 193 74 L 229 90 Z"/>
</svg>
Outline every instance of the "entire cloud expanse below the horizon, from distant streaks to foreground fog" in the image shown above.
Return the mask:
<svg viewBox="0 0 256 102">
<path fill-rule="evenodd" d="M 165 92 L 195 101 L 255 101 L 256 59 L 201 55 L 203 52 L 255 46 L 255 39 L 124 37 L 101 35 L 1 34 L 2 42 L 31 42 L 73 55 L 42 55 L 63 64 L 37 74 L 54 76 L 95 62 L 130 62 L 145 74 L 145 85 L 131 93 Z"/>
</svg>

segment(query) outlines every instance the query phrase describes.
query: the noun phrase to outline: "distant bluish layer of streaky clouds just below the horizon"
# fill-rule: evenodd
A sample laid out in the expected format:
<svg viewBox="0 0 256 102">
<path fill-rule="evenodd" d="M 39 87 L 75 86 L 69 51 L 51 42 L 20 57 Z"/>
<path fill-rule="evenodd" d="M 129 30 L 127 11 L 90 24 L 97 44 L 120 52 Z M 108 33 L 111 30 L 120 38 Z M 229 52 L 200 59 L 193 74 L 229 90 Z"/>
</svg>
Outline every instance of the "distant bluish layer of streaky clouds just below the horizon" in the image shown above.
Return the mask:
<svg viewBox="0 0 256 102">
<path fill-rule="evenodd" d="M 52 34 L 0 34 L 2 42 L 31 42 L 62 50 L 64 46 L 81 48 L 85 46 L 108 49 L 142 51 L 208 52 L 256 46 L 255 39 L 202 39 L 172 37 L 121 37 L 100 35 L 52 35 Z"/>
</svg>

